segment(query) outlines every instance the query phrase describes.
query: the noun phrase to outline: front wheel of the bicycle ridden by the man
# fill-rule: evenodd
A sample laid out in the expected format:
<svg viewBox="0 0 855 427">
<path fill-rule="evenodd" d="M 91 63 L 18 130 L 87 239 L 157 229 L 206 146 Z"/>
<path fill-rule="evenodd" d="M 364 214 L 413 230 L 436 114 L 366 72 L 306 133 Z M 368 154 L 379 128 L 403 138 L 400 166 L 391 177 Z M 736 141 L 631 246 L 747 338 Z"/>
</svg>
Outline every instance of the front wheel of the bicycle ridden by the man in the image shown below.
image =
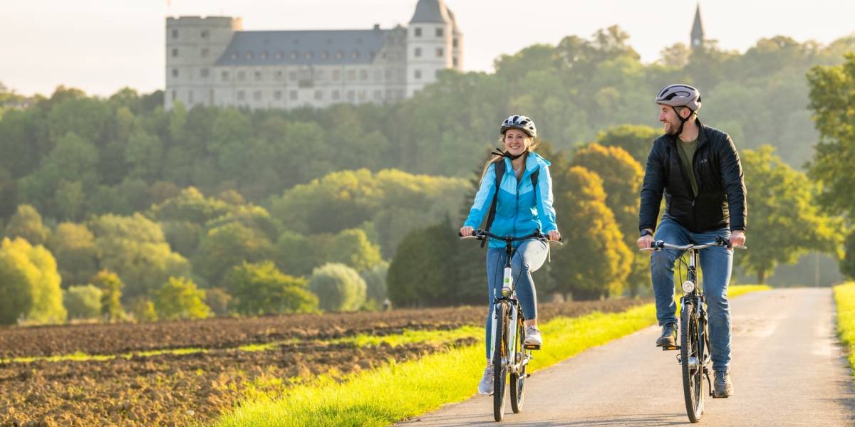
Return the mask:
<svg viewBox="0 0 855 427">
<path fill-rule="evenodd" d="M 683 371 L 683 395 L 689 421 L 700 421 L 704 411 L 704 361 L 699 354 L 698 312 L 692 302 L 683 303 L 681 313 L 680 358 Z"/>
</svg>

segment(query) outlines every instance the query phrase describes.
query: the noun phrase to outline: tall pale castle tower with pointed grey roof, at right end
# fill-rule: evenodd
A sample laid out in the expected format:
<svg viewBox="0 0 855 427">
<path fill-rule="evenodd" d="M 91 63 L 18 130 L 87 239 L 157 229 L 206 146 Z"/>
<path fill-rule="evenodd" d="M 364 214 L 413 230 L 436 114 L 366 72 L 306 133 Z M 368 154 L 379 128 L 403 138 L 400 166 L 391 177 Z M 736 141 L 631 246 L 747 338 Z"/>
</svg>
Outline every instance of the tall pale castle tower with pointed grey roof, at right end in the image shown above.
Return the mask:
<svg viewBox="0 0 855 427">
<path fill-rule="evenodd" d="M 454 67 L 454 34 L 454 20 L 442 0 L 416 3 L 407 29 L 407 97 L 435 82 L 440 71 Z M 459 39 L 457 44 L 461 45 Z M 462 62 L 458 56 L 457 63 Z"/>
</svg>

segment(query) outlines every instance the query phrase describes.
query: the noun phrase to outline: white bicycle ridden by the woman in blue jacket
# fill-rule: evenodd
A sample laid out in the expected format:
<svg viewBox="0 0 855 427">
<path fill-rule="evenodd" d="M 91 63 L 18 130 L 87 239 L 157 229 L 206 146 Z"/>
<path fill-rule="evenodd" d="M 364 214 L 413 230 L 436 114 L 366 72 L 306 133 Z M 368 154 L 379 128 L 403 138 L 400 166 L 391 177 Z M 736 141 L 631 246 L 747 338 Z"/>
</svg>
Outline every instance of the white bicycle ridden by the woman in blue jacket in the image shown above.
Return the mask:
<svg viewBox="0 0 855 427">
<path fill-rule="evenodd" d="M 516 284 L 514 283 L 510 268 L 510 260 L 514 255 L 513 243 L 530 238 L 549 243 L 561 243 L 549 240 L 540 231 L 534 231 L 534 233 L 525 237 L 501 237 L 489 231 L 475 230 L 472 236 L 461 236 L 461 238 L 476 240 L 494 238 L 504 241 L 504 250 L 505 254 L 507 254 L 504 263 L 501 295 L 496 295 L 493 301 L 492 334 L 490 339 L 493 370 L 492 414 L 496 421 L 501 421 L 504 418 L 504 385 L 509 373 L 511 385 L 510 408 L 514 413 L 519 413 L 522 411 L 525 381 L 531 375 L 526 373 L 526 365 L 534 359 L 532 351 L 540 350 L 540 346 L 538 345 L 525 344 L 526 337 L 522 307 L 516 301 Z M 498 334 L 497 330 L 501 330 L 501 334 Z"/>
</svg>

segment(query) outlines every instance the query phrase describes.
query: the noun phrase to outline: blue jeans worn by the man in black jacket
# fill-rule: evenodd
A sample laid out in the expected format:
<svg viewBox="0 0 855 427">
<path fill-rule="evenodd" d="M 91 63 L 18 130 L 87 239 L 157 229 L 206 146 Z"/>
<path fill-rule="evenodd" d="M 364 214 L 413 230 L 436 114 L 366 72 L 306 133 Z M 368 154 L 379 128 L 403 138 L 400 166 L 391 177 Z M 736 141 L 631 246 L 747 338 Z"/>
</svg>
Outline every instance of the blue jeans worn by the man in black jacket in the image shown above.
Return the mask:
<svg viewBox="0 0 855 427">
<path fill-rule="evenodd" d="M 655 240 L 684 245 L 715 242 L 716 236 L 730 237 L 727 228 L 693 233 L 674 219 L 663 217 L 656 231 Z M 650 272 L 653 295 L 656 295 L 656 318 L 659 325 L 676 323 L 677 304 L 674 301 L 674 263 L 685 251 L 664 249 L 653 251 Z M 707 318 L 710 323 L 710 347 L 712 369 L 727 371 L 730 367 L 730 307 L 728 307 L 728 284 L 734 265 L 733 249 L 713 246 L 699 252 L 700 270 L 703 273 L 704 295 L 706 296 Z"/>
</svg>

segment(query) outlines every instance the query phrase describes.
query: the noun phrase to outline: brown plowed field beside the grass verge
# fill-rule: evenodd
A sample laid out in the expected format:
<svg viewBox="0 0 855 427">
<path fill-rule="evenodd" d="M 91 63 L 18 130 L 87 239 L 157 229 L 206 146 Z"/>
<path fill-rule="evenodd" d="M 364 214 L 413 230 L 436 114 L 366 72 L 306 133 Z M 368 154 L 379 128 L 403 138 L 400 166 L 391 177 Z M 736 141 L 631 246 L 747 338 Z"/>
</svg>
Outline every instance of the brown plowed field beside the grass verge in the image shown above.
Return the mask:
<svg viewBox="0 0 855 427">
<path fill-rule="evenodd" d="M 540 319 L 618 312 L 647 301 L 541 304 Z M 0 329 L 0 425 L 185 425 L 208 421 L 258 391 L 341 379 L 355 371 L 442 351 L 457 342 L 358 347 L 334 339 L 482 325 L 486 307 L 208 319 L 141 325 Z M 548 340 L 548 336 L 545 337 Z M 268 345 L 250 351 L 239 348 Z M 548 345 L 548 342 L 547 342 Z M 191 354 L 135 352 L 197 348 Z M 62 354 L 110 360 L 41 360 Z M 8 361 L 36 357 L 34 361 Z M 81 356 L 83 359 L 85 357 Z"/>
</svg>

